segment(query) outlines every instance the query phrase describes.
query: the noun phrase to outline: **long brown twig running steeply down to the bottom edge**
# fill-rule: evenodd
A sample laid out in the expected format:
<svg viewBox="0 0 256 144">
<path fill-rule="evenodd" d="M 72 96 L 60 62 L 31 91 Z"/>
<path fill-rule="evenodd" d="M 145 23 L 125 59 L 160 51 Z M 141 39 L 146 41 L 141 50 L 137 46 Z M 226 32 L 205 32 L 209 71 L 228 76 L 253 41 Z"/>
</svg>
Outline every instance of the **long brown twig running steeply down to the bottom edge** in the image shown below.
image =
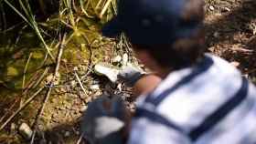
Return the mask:
<svg viewBox="0 0 256 144">
<path fill-rule="evenodd" d="M 44 112 L 44 108 L 46 107 L 46 104 L 48 102 L 48 98 L 50 96 L 50 92 L 52 90 L 52 87 L 54 86 L 54 80 L 55 78 L 57 77 L 58 73 L 59 73 L 59 64 L 60 64 L 60 61 L 61 61 L 61 56 L 62 56 L 62 53 L 63 53 L 63 49 L 64 49 L 64 41 L 65 41 L 65 38 L 66 38 L 66 34 L 64 34 L 64 36 L 62 37 L 62 40 L 61 40 L 61 45 L 59 46 L 59 52 L 58 52 L 58 57 L 57 57 L 57 64 L 56 64 L 56 67 L 55 67 L 55 70 L 54 70 L 54 75 L 51 79 L 51 81 L 49 82 L 49 87 L 48 87 L 48 91 L 47 91 L 47 94 L 44 98 L 44 101 L 43 101 L 43 105 L 42 107 L 39 109 L 39 112 L 37 113 L 37 117 L 36 117 L 36 120 L 32 126 L 32 128 L 34 128 L 33 130 L 33 135 L 32 135 L 32 138 L 35 137 L 36 135 L 36 129 L 35 127 L 37 126 L 37 123 L 38 123 L 38 120 L 39 118 L 41 117 L 42 113 Z M 31 139 L 30 141 L 31 144 L 34 143 L 34 139 Z"/>
</svg>

